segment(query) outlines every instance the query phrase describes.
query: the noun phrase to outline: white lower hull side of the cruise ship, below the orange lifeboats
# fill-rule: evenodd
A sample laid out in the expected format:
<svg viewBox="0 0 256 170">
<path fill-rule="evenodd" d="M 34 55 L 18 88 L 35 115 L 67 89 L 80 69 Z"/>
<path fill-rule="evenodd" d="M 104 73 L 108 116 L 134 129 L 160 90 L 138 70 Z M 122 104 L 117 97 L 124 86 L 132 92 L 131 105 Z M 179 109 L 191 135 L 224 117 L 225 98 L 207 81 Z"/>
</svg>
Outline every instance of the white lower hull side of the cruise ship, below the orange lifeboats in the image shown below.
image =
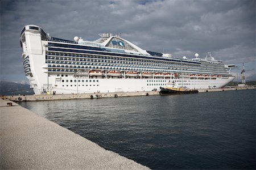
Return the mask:
<svg viewBox="0 0 256 170">
<path fill-rule="evenodd" d="M 56 91 L 57 94 L 84 94 L 93 92 L 134 92 L 134 91 L 151 91 L 160 90 L 160 87 L 165 87 L 166 83 L 171 79 L 84 79 L 84 78 L 69 78 L 64 77 L 56 82 L 57 76 L 49 79 L 49 91 Z M 183 79 L 183 86 L 189 89 L 207 89 L 220 88 L 229 83 L 233 78 L 228 79 L 214 79 L 214 80 L 191 80 Z M 68 83 L 66 82 L 68 80 Z M 72 82 L 71 82 L 72 80 Z M 82 82 L 84 80 L 84 82 Z M 76 82 L 75 82 L 76 81 Z M 181 86 L 182 79 L 175 79 L 177 84 Z M 189 81 L 189 82 L 188 82 Z M 128 86 L 127 86 L 128 85 Z M 36 88 L 36 94 L 42 94 L 47 91 L 45 84 L 42 88 Z"/>
</svg>

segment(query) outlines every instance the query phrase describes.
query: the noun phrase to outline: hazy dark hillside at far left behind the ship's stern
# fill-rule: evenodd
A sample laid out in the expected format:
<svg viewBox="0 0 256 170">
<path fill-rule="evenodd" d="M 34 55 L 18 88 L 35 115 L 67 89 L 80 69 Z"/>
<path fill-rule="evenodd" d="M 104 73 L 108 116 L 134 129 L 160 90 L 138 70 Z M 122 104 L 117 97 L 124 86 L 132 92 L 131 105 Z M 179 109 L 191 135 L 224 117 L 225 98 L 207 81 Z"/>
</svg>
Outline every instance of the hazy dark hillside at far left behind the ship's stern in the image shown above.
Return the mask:
<svg viewBox="0 0 256 170">
<path fill-rule="evenodd" d="M 0 95 L 34 95 L 28 84 L 0 81 Z"/>
</svg>

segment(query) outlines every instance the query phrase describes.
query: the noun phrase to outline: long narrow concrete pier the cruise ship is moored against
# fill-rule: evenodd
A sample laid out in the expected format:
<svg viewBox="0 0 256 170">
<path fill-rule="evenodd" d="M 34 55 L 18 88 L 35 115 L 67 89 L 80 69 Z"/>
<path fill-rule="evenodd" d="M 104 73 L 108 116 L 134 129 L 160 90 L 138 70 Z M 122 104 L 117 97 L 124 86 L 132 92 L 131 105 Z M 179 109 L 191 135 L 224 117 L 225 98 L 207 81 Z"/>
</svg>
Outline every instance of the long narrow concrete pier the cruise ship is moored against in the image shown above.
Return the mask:
<svg viewBox="0 0 256 170">
<path fill-rule="evenodd" d="M 245 87 L 226 87 L 200 89 L 199 92 L 216 92 L 216 91 L 234 91 L 256 89 L 256 86 Z M 11 101 L 44 101 L 44 100 L 67 100 L 67 99 L 100 99 L 106 97 L 128 97 L 128 96 L 151 96 L 160 95 L 159 91 L 138 91 L 138 92 L 110 92 L 110 93 L 93 93 L 93 94 L 68 94 L 68 95 L 20 95 L 5 96 Z"/>
</svg>

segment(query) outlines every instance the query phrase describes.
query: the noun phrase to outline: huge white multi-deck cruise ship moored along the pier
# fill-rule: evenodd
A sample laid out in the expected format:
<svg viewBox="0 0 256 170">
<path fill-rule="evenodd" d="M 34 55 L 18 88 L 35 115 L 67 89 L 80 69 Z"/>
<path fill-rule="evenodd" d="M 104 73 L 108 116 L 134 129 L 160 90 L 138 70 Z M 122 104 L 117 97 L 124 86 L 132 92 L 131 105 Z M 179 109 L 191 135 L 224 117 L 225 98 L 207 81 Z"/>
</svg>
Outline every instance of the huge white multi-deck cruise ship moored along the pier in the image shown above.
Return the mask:
<svg viewBox="0 0 256 170">
<path fill-rule="evenodd" d="M 20 33 L 23 66 L 35 94 L 152 91 L 169 82 L 188 89 L 220 88 L 234 79 L 234 65 L 210 53 L 175 58 L 141 49 L 120 35 L 99 35 L 96 41 L 77 36 L 71 41 L 25 25 Z"/>
</svg>

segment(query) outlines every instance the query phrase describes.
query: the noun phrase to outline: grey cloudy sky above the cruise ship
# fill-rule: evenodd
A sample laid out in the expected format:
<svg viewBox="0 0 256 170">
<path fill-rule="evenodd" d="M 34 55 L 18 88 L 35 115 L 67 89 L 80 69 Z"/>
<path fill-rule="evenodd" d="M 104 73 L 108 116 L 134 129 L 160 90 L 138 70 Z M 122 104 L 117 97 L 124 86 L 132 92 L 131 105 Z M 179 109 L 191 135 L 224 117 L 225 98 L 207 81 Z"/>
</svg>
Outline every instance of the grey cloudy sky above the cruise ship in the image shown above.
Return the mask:
<svg viewBox="0 0 256 170">
<path fill-rule="evenodd" d="M 39 25 L 51 36 L 96 40 L 98 33 L 122 33 L 142 49 L 193 58 L 212 52 L 236 64 L 241 79 L 255 74 L 255 1 L 5 1 L 1 0 L 1 80 L 26 83 L 20 31 Z"/>
</svg>

